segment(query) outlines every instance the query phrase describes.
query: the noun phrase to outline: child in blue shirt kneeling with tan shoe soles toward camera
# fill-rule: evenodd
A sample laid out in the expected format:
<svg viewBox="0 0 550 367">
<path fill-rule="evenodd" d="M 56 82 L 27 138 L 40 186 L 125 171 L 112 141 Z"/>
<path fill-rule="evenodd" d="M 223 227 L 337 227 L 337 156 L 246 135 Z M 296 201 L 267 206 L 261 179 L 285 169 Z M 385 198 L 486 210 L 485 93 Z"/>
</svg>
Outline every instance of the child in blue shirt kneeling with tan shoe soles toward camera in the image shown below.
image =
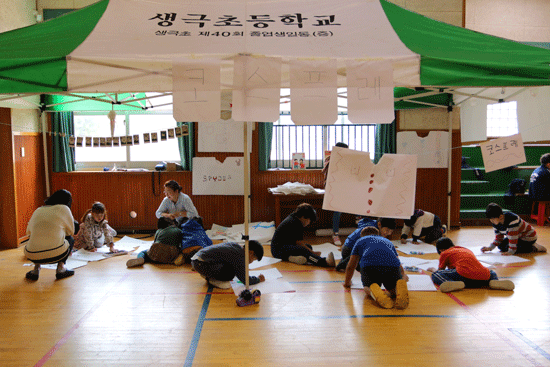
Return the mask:
<svg viewBox="0 0 550 367">
<path fill-rule="evenodd" d="M 357 241 L 346 267 L 344 287 L 351 287 L 351 278 L 359 265 L 365 293 L 383 308 L 405 309 L 409 305 L 409 291 L 401 261 L 393 243 L 378 235 L 375 227 L 365 227 Z M 382 291 L 381 285 L 388 290 Z M 395 301 L 393 300 L 395 298 Z"/>
</svg>

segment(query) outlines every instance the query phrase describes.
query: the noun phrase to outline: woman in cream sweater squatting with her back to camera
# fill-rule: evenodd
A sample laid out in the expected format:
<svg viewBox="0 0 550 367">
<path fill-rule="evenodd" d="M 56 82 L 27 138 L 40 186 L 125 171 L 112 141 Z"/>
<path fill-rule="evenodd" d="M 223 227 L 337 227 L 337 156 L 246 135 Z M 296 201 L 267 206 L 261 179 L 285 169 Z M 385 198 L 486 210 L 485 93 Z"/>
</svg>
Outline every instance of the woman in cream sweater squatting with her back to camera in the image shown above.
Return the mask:
<svg viewBox="0 0 550 367">
<path fill-rule="evenodd" d="M 57 263 L 57 279 L 74 274 L 74 270 L 65 267 L 74 245 L 72 236 L 75 224 L 71 204 L 71 193 L 58 190 L 32 214 L 27 225 L 29 241 L 25 245 L 25 256 L 35 265 L 34 270 L 25 275 L 28 280 L 38 280 L 40 264 Z"/>
</svg>

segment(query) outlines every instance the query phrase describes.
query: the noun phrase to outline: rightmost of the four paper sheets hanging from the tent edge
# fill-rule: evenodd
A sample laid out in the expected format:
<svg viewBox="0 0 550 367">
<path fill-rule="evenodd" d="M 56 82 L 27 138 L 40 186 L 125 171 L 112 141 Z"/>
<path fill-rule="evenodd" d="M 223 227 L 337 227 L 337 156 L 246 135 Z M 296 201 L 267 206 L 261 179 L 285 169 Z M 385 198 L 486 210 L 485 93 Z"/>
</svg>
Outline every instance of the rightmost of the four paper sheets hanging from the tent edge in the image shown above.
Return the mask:
<svg viewBox="0 0 550 367">
<path fill-rule="evenodd" d="M 348 118 L 355 124 L 389 124 L 394 120 L 391 62 L 346 64 Z"/>
</svg>

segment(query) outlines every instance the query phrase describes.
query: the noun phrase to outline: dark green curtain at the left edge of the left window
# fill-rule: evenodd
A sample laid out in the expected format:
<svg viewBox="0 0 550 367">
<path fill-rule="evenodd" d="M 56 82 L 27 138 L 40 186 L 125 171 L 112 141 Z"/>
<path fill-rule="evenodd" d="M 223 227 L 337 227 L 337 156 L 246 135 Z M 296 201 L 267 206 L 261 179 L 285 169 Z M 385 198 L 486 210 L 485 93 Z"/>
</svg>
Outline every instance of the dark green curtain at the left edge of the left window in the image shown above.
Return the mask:
<svg viewBox="0 0 550 367">
<path fill-rule="evenodd" d="M 74 148 L 69 147 L 69 136 L 74 136 L 74 114 L 52 113 L 52 133 L 53 171 L 74 171 Z"/>
</svg>

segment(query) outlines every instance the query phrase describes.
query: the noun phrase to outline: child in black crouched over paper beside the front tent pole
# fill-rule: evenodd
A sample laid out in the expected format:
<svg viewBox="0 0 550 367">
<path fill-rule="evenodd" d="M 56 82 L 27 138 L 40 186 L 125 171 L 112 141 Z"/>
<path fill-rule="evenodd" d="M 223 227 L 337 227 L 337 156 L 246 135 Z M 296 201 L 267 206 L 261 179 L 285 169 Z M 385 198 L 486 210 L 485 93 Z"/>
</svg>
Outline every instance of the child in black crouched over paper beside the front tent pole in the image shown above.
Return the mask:
<svg viewBox="0 0 550 367">
<path fill-rule="evenodd" d="M 248 260 L 260 261 L 264 256 L 264 248 L 255 240 L 248 242 Z M 216 288 L 231 288 L 231 280 L 235 276 L 246 283 L 244 247 L 235 242 L 220 243 L 199 250 L 191 258 L 191 266 L 208 284 Z M 254 285 L 265 281 L 263 274 L 259 277 L 249 276 L 248 284 Z"/>
</svg>

